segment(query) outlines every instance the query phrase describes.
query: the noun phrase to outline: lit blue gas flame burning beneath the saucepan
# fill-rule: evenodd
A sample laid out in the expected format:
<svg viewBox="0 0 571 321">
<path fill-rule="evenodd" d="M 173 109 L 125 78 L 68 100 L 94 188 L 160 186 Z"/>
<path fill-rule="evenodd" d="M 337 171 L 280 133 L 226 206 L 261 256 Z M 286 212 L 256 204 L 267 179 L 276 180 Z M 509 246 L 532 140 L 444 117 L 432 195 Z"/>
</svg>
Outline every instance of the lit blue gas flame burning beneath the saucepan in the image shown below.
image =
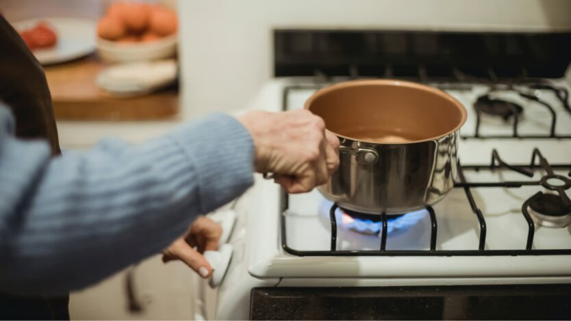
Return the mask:
<svg viewBox="0 0 571 321">
<path fill-rule="evenodd" d="M 332 206 L 333 202 L 324 198 L 320 205 L 320 213 L 329 218 L 329 211 Z M 427 209 L 412 211 L 407 214 L 387 215 L 387 234 L 389 235 L 396 231 L 405 231 L 406 229 L 416 225 L 427 215 Z M 383 230 L 381 214 L 365 214 L 338 207 L 335 210 L 335 218 L 340 227 L 357 233 L 377 235 Z"/>
</svg>

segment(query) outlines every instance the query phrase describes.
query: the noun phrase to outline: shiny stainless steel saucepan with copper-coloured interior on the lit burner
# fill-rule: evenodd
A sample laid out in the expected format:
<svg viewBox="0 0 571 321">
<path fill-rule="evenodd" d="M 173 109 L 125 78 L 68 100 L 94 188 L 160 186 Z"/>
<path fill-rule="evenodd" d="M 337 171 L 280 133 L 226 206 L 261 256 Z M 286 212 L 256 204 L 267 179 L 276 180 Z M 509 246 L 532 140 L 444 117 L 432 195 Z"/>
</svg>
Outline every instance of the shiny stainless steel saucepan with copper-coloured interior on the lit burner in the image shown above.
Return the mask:
<svg viewBox="0 0 571 321">
<path fill-rule="evenodd" d="M 340 166 L 318 190 L 340 207 L 403 214 L 453 188 L 466 109 L 446 92 L 408 81 L 346 81 L 305 109 L 341 141 Z"/>
</svg>

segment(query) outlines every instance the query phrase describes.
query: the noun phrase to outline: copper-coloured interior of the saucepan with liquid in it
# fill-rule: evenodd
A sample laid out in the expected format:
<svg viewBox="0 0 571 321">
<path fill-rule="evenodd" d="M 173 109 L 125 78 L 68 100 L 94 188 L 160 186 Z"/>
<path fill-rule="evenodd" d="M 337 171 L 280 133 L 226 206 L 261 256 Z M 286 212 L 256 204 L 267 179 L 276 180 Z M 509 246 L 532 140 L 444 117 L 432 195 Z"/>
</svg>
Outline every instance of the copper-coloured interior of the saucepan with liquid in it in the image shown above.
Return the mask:
<svg viewBox="0 0 571 321">
<path fill-rule="evenodd" d="M 453 97 L 408 81 L 347 81 L 319 90 L 305 108 L 338 136 L 381 144 L 434 140 L 466 121 Z"/>
</svg>

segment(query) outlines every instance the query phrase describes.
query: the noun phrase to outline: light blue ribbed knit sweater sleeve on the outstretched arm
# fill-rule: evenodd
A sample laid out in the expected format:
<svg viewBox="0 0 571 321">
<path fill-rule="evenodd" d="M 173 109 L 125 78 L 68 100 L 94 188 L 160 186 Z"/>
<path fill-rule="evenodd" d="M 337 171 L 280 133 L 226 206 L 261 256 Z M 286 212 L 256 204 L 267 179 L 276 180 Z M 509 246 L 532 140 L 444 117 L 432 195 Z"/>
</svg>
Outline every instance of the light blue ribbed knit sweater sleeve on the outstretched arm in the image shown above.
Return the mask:
<svg viewBox="0 0 571 321">
<path fill-rule="evenodd" d="M 158 253 L 253 184 L 253 142 L 215 114 L 136 146 L 51 158 L 0 105 L 0 292 L 59 294 Z"/>
</svg>

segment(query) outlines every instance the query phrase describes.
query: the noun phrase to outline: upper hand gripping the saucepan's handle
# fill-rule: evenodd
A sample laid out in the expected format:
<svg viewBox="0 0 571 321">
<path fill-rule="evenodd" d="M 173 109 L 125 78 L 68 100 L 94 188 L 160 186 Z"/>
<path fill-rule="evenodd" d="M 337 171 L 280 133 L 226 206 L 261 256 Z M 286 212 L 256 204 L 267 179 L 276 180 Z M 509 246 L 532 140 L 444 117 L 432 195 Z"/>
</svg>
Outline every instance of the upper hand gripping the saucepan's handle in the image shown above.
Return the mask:
<svg viewBox="0 0 571 321">
<path fill-rule="evenodd" d="M 339 166 L 339 140 L 307 110 L 254 111 L 238 117 L 255 144 L 255 170 L 274 173 L 289 193 L 327 183 Z"/>
</svg>

